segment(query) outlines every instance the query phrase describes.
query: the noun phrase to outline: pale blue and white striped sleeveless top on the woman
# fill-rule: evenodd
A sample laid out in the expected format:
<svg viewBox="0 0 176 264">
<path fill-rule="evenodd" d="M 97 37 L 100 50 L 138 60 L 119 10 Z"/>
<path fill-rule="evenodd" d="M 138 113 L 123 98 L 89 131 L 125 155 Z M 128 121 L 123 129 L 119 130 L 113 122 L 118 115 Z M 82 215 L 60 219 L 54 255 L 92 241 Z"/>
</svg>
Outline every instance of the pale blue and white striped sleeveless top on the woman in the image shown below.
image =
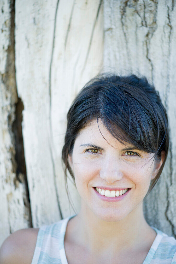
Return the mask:
<svg viewBox="0 0 176 264">
<path fill-rule="evenodd" d="M 67 223 L 75 215 L 40 227 L 31 264 L 68 264 L 64 237 Z M 156 231 L 157 235 L 141 264 L 176 264 L 176 239 L 155 227 L 151 228 Z"/>
</svg>

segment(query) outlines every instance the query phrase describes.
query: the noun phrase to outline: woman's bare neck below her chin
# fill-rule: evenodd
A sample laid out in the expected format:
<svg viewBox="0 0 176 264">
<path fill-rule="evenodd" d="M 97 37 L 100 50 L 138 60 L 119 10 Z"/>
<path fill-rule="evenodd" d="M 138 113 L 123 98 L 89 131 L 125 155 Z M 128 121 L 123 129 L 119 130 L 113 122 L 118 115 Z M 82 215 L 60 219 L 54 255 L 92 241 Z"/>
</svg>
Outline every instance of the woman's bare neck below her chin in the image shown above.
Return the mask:
<svg viewBox="0 0 176 264">
<path fill-rule="evenodd" d="M 125 218 L 115 222 L 100 219 L 84 204 L 74 220 L 77 243 L 92 254 L 142 247 L 148 233 L 151 233 L 151 227 L 144 218 L 142 203 Z"/>
</svg>

